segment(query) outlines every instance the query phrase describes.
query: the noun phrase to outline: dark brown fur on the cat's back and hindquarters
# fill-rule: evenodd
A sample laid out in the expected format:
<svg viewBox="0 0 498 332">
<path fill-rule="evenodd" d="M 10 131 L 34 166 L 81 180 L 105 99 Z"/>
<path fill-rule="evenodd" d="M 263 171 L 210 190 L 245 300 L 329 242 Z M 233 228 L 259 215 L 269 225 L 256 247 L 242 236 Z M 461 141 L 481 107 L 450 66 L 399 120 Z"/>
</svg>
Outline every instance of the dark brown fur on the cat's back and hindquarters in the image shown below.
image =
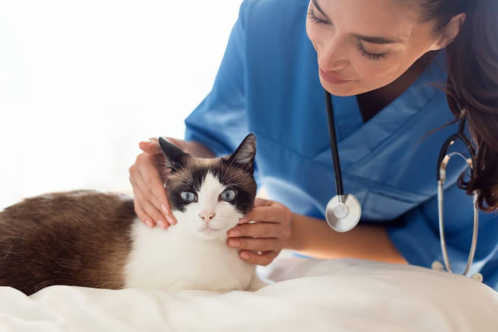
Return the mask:
<svg viewBox="0 0 498 332">
<path fill-rule="evenodd" d="M 27 295 L 52 285 L 123 288 L 135 217 L 131 199 L 95 191 L 37 196 L 6 208 L 0 286 Z"/>
</svg>

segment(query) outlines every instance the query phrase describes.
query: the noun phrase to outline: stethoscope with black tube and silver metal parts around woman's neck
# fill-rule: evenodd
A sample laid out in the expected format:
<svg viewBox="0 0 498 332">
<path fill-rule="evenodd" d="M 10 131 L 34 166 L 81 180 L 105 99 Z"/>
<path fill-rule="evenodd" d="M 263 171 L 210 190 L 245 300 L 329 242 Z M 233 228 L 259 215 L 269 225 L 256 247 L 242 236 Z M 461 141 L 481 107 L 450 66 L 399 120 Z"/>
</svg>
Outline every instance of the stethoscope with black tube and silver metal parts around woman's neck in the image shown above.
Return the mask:
<svg viewBox="0 0 498 332">
<path fill-rule="evenodd" d="M 332 150 L 332 161 L 334 163 L 334 173 L 336 178 L 336 192 L 337 195 L 334 196 L 329 203 L 327 204 L 327 208 L 325 210 L 325 219 L 332 229 L 338 232 L 346 232 L 348 230 L 353 229 L 362 216 L 362 206 L 358 199 L 352 194 L 344 194 L 343 182 L 342 182 L 342 174 L 341 174 L 341 165 L 339 161 L 339 151 L 337 148 L 337 136 L 334 124 L 334 109 L 332 107 L 332 98 L 328 91 L 325 90 L 325 105 L 327 106 L 327 120 L 329 125 L 329 137 L 330 137 L 330 148 Z M 473 171 L 473 161 L 476 159 L 476 152 L 470 139 L 465 135 L 465 116 L 459 121 L 458 124 L 458 132 L 456 134 L 451 135 L 441 147 L 439 152 L 439 158 L 437 163 L 437 199 L 438 199 L 438 218 L 439 218 L 439 238 L 441 240 L 441 251 L 443 253 L 443 259 L 447 272 L 452 272 L 450 261 L 448 259 L 448 252 L 446 250 L 446 240 L 444 237 L 444 228 L 443 228 L 443 184 L 446 180 L 446 167 L 448 162 L 453 156 L 459 156 L 465 160 L 467 166 L 470 168 L 471 179 L 474 178 Z M 462 140 L 467 149 L 469 150 L 470 158 L 466 158 L 462 153 L 459 152 L 451 152 L 448 154 L 448 148 L 455 143 L 457 139 Z M 472 244 L 469 253 L 469 257 L 467 260 L 467 267 L 463 275 L 468 275 L 470 266 L 472 265 L 472 261 L 474 260 L 474 255 L 476 252 L 477 245 L 477 230 L 479 226 L 479 213 L 477 209 L 477 193 L 473 195 L 473 204 L 474 204 L 474 229 L 472 232 Z M 432 268 L 438 271 L 443 271 L 443 264 L 439 261 L 435 261 L 432 263 Z M 471 276 L 472 279 L 477 280 L 479 282 L 483 281 L 483 276 L 481 273 L 476 273 Z"/>
</svg>

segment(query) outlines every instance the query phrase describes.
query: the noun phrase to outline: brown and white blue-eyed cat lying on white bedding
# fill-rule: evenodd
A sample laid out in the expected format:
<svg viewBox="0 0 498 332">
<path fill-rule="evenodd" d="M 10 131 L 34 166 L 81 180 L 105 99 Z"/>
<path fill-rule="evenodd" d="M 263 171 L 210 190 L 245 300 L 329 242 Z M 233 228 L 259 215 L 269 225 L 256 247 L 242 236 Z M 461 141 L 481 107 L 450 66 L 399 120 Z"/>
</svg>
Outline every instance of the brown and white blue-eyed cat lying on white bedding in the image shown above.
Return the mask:
<svg viewBox="0 0 498 332">
<path fill-rule="evenodd" d="M 31 295 L 52 285 L 123 289 L 257 290 L 255 265 L 226 244 L 256 195 L 256 139 L 205 159 L 160 137 L 164 187 L 178 223 L 141 222 L 133 199 L 92 190 L 50 193 L 0 212 L 0 286 Z"/>
</svg>

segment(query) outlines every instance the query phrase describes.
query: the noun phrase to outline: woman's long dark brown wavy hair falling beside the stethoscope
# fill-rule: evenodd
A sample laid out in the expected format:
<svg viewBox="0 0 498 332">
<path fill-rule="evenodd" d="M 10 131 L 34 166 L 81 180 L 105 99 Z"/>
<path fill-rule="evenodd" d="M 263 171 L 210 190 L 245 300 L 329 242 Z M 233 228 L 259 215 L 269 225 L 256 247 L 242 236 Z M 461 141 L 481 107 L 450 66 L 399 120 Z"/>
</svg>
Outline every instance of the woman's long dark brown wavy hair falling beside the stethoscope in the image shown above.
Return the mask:
<svg viewBox="0 0 498 332">
<path fill-rule="evenodd" d="M 474 179 L 465 181 L 463 173 L 458 187 L 469 195 L 477 192 L 481 210 L 497 210 L 498 0 L 418 0 L 418 4 L 422 20 L 435 22 L 435 33 L 455 15 L 467 15 L 460 33 L 446 47 L 448 105 L 457 118 L 467 118 L 477 147 Z"/>
</svg>

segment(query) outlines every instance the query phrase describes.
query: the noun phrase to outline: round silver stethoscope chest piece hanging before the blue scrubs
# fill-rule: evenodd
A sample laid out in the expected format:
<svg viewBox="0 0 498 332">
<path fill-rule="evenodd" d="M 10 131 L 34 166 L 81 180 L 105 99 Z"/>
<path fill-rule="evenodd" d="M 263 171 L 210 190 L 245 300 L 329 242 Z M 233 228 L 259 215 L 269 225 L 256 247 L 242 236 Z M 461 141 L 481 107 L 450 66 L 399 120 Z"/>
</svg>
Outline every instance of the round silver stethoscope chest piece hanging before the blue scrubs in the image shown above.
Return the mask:
<svg viewBox="0 0 498 332">
<path fill-rule="evenodd" d="M 332 229 L 346 232 L 353 229 L 362 215 L 362 207 L 355 196 L 345 194 L 334 196 L 325 210 L 325 219 Z"/>
</svg>

